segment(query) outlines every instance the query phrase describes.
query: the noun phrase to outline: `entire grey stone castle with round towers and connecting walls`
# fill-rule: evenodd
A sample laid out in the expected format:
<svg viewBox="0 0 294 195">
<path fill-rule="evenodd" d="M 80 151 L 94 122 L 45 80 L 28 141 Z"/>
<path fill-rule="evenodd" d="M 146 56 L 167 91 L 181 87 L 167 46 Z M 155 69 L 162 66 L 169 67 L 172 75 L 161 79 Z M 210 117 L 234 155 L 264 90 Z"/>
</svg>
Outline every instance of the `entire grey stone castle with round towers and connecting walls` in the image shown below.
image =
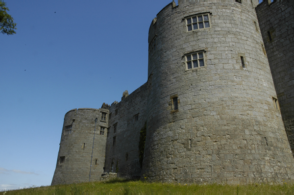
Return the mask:
<svg viewBox="0 0 294 195">
<path fill-rule="evenodd" d="M 147 82 L 120 102 L 66 113 L 52 185 L 112 172 L 170 183 L 293 181 L 293 5 L 168 4 L 149 28 Z"/>
</svg>

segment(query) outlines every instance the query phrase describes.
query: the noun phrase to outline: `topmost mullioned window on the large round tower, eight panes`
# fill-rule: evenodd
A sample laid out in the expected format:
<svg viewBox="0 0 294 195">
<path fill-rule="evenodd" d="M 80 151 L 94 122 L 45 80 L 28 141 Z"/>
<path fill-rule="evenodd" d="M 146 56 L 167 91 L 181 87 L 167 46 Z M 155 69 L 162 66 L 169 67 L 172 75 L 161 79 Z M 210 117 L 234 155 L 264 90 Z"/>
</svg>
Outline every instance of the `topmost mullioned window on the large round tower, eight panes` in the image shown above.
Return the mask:
<svg viewBox="0 0 294 195">
<path fill-rule="evenodd" d="M 186 24 L 187 31 L 197 30 L 200 28 L 209 28 L 209 14 L 186 18 Z"/>
</svg>

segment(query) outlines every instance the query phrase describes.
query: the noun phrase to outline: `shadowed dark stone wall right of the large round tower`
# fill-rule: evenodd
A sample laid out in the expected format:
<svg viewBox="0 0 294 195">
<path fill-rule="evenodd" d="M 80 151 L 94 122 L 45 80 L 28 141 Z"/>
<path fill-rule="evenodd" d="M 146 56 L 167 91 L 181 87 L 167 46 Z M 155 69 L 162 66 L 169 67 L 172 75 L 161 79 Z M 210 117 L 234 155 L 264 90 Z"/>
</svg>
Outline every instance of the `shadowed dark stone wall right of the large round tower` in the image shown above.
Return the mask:
<svg viewBox="0 0 294 195">
<path fill-rule="evenodd" d="M 264 1 L 256 7 L 282 118 L 294 154 L 294 1 Z M 274 17 L 272 17 L 274 13 Z"/>
</svg>

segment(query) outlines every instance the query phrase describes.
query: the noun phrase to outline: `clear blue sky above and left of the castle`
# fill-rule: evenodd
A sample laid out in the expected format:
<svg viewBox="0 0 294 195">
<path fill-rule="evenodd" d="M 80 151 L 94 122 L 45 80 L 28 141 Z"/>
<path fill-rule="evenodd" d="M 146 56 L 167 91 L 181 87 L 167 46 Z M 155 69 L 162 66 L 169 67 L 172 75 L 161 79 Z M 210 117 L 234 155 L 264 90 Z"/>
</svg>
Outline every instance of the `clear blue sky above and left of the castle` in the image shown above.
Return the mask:
<svg viewBox="0 0 294 195">
<path fill-rule="evenodd" d="M 65 113 L 147 81 L 149 25 L 172 0 L 5 2 L 18 29 L 0 34 L 0 191 L 50 185 Z"/>
</svg>

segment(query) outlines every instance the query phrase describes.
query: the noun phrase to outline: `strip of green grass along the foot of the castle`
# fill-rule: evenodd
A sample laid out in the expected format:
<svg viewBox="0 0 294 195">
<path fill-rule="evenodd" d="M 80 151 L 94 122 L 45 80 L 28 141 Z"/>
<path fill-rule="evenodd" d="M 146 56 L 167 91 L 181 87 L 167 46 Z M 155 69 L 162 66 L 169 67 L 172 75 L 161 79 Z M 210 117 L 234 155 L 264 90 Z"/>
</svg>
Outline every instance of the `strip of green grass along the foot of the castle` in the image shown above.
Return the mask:
<svg viewBox="0 0 294 195">
<path fill-rule="evenodd" d="M 0 192 L 0 195 L 34 194 L 294 194 L 294 184 L 269 185 L 185 185 L 148 183 L 142 181 L 112 180 L 108 182 L 89 182 L 71 185 L 42 186 L 22 190 Z"/>
</svg>

